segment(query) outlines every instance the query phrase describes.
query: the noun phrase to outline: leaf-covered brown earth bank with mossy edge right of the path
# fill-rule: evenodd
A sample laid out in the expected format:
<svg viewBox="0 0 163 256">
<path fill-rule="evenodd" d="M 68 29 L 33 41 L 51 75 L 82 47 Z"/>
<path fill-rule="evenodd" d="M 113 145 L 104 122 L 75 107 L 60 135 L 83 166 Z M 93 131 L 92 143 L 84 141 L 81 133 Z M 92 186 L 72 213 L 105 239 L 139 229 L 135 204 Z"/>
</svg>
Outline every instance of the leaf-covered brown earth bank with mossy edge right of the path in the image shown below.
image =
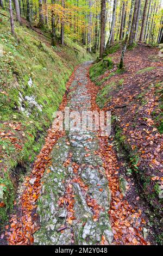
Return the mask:
<svg viewBox="0 0 163 256">
<path fill-rule="evenodd" d="M 125 71 L 121 72 L 118 70 L 120 54 L 117 51 L 109 55 L 113 68 L 109 65 L 106 69 L 104 61 L 90 69 L 91 79 L 97 86 L 96 102 L 112 114 L 111 140 L 117 152 L 118 168 L 112 180 L 115 178 L 120 184 L 117 193 L 125 191 L 123 200 L 136 205 L 145 215 L 145 237 L 152 243 L 154 239 L 162 243 L 162 58 L 158 48 L 139 44 L 127 51 Z M 130 223 L 121 221 L 126 217 L 122 206 L 117 207 L 115 186 L 110 215 L 114 234 L 118 237 L 122 226 L 128 224 L 130 227 Z M 115 207 L 119 218 L 115 215 Z"/>
</svg>

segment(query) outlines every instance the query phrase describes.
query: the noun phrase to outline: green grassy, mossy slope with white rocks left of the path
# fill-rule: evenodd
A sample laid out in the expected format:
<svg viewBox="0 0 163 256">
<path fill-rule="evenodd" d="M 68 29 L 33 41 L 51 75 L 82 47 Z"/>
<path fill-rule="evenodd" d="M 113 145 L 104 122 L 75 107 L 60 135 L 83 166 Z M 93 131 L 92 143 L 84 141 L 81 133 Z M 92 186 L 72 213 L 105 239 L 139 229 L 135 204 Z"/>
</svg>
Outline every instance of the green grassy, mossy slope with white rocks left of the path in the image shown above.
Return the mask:
<svg viewBox="0 0 163 256">
<path fill-rule="evenodd" d="M 2 13 L 3 10 L 1 10 Z M 5 14 L 5 12 L 3 12 Z M 0 222 L 12 208 L 19 176 L 27 172 L 61 103 L 74 66 L 90 55 L 70 39 L 61 48 L 26 26 L 10 33 L 0 15 Z M 43 42 L 42 42 L 43 41 Z"/>
</svg>

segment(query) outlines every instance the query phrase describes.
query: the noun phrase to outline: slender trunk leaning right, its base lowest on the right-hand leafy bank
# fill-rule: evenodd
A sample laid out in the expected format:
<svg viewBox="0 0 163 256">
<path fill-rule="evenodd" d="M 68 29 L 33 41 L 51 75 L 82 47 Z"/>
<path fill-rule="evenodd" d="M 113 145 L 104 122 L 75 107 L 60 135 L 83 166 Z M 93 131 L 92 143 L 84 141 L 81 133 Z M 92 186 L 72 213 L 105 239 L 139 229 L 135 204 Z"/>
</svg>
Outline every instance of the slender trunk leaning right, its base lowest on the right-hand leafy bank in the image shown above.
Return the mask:
<svg viewBox="0 0 163 256">
<path fill-rule="evenodd" d="M 121 60 L 120 60 L 120 69 L 123 69 L 123 67 L 124 67 L 124 54 L 126 53 L 126 50 L 127 50 L 128 36 L 129 36 L 130 30 L 131 30 L 131 20 L 132 20 L 132 16 L 133 16 L 133 10 L 134 10 L 134 0 L 131 0 L 131 9 L 130 9 L 130 14 L 129 14 L 128 29 L 127 29 L 123 49 L 122 49 Z"/>
</svg>

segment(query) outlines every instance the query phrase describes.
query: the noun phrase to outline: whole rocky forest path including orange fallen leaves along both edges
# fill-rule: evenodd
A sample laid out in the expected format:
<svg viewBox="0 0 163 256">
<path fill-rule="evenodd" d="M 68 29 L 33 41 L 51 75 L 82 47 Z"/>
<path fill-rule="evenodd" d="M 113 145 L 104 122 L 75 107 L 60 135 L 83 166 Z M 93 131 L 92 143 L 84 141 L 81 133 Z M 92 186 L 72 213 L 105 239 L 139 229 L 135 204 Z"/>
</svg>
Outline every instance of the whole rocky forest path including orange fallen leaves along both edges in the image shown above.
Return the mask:
<svg viewBox="0 0 163 256">
<path fill-rule="evenodd" d="M 90 64 L 74 71 L 61 111 L 66 106 L 78 114 L 99 111 Z M 19 214 L 12 215 L 7 231 L 10 245 L 147 244 L 140 233 L 140 212 L 120 192 L 116 153 L 99 132 L 79 126 L 59 131 L 53 124 L 19 199 Z M 118 219 L 114 232 L 110 211 Z"/>
</svg>

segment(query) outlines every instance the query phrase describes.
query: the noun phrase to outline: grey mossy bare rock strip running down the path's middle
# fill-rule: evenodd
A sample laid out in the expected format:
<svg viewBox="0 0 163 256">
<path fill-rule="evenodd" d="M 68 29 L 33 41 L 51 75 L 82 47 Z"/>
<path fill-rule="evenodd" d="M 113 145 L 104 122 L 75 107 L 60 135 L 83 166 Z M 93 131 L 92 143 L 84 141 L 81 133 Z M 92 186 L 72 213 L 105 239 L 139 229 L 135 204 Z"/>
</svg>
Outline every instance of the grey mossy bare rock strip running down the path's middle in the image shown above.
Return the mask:
<svg viewBox="0 0 163 256">
<path fill-rule="evenodd" d="M 70 110 L 82 112 L 91 107 L 86 88 L 89 65 L 90 62 L 84 63 L 76 70 L 68 95 Z M 111 196 L 102 159 L 96 154 L 98 148 L 96 132 L 75 129 L 55 144 L 52 166 L 42 178 L 37 208 L 40 229 L 34 234 L 35 245 L 99 245 L 102 235 L 112 242 L 108 215 Z M 74 164 L 78 166 L 76 172 Z M 61 198 L 67 197 L 67 188 L 72 191 L 72 221 L 68 218 L 69 203 L 63 200 L 60 204 Z"/>
</svg>

